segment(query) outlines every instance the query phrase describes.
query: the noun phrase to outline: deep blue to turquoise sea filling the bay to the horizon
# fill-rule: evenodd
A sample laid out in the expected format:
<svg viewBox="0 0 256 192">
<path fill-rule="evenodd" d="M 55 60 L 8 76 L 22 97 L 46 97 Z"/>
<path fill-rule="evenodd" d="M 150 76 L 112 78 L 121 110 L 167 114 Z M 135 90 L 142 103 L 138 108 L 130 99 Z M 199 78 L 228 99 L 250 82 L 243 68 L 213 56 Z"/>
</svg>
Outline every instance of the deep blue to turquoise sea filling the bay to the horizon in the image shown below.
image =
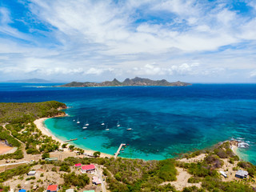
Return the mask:
<svg viewBox="0 0 256 192">
<path fill-rule="evenodd" d="M 159 160 L 239 138 L 250 146 L 238 153 L 256 164 L 256 84 L 51 86 L 0 83 L 0 102 L 65 102 L 69 116 L 50 118 L 46 127 L 58 138 L 78 138 L 74 145 L 86 149 L 114 154 L 126 143 L 121 157 Z"/>
</svg>

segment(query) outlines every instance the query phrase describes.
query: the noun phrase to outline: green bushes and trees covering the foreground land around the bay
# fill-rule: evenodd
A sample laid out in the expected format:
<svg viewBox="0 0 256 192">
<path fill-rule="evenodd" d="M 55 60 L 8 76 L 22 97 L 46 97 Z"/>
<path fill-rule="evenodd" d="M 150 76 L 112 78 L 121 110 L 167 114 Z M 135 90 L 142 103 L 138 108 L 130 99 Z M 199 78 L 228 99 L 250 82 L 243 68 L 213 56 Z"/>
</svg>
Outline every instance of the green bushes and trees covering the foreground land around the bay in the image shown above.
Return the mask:
<svg viewBox="0 0 256 192">
<path fill-rule="evenodd" d="M 128 80 L 127 80 L 128 81 Z M 118 83 L 118 82 L 115 82 Z M 57 110 L 58 107 L 65 107 L 65 104 L 60 102 L 42 102 L 42 103 L 0 103 L 0 122 L 8 122 L 5 127 L 0 126 L 0 139 L 6 140 L 10 146 L 18 147 L 13 154 L 4 154 L 1 159 L 23 158 L 22 149 L 25 148 L 27 154 L 42 154 L 42 158 L 50 158 L 50 152 L 58 150 L 60 143 L 55 142 L 52 138 L 42 135 L 41 131 L 34 125 L 36 118 L 50 117 L 57 114 L 64 114 Z M 13 115 L 12 115 L 13 112 Z M 67 144 L 62 145 L 66 148 Z M 70 150 L 78 150 L 83 153 L 82 149 L 74 146 L 69 146 Z M 25 151 L 24 151 L 25 152 Z M 195 151 L 191 154 L 184 154 L 183 157 L 194 158 L 201 153 L 206 153 L 206 158 L 201 162 L 180 162 L 174 159 L 166 159 L 162 161 L 143 161 L 141 159 L 126 159 L 126 158 L 98 158 L 100 152 L 94 153 L 97 158 L 66 158 L 64 161 L 43 161 L 39 160 L 41 165 L 54 165 L 51 170 L 54 172 L 64 171 L 62 178 L 64 184 L 62 191 L 76 186 L 77 190 L 90 183 L 87 174 L 75 174 L 71 172 L 70 167 L 76 163 L 83 165 L 95 163 L 104 166 L 103 174 L 108 183 L 110 191 L 172 191 L 178 192 L 174 186 L 162 185 L 163 182 L 172 182 L 177 178 L 177 170 L 175 166 L 180 166 L 193 176 L 188 179 L 190 183 L 202 183 L 202 188 L 190 186 L 184 188 L 183 192 L 224 192 L 224 191 L 254 191 L 247 185 L 247 181 L 241 182 L 222 182 L 222 178 L 218 173 L 218 169 L 223 166 L 223 160 L 226 158 L 230 163 L 236 165 L 239 160 L 232 150 L 230 150 L 230 142 L 224 142 L 221 145 L 214 146 L 213 149 L 207 151 Z M 38 162 L 34 162 L 34 165 Z M 17 168 L 6 170 L 0 173 L 0 188 L 5 191 L 9 190 L 8 186 L 2 186 L 2 182 L 20 175 L 18 179 L 24 179 L 23 175 L 28 173 L 30 166 L 18 166 Z M 51 167 L 51 166 L 50 166 Z M 250 177 L 256 175 L 256 166 L 250 162 L 238 162 L 234 170 L 241 167 L 249 172 Z M 48 171 L 48 170 L 46 170 Z M 43 174 L 40 175 L 43 177 Z M 34 180 L 35 177 L 26 178 L 26 181 Z M 250 181 L 253 181 L 250 178 Z M 34 183 L 32 181 L 31 183 Z M 37 180 L 38 184 L 43 182 Z M 249 182 L 249 181 L 248 181 Z M 38 188 L 38 191 L 43 190 Z"/>
</svg>

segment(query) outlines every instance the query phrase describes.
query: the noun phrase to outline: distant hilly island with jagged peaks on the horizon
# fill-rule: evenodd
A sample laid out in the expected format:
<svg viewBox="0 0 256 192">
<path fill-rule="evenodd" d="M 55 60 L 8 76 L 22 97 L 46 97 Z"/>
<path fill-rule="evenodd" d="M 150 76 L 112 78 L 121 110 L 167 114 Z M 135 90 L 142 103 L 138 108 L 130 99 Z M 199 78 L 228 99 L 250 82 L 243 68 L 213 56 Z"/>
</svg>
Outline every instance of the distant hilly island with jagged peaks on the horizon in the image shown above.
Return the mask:
<svg viewBox="0 0 256 192">
<path fill-rule="evenodd" d="M 191 86 L 187 82 L 167 82 L 162 80 L 151 80 L 149 78 L 126 78 L 123 82 L 119 82 L 116 78 L 112 82 L 70 82 L 65 85 L 66 87 L 88 87 L 88 86 Z"/>
</svg>

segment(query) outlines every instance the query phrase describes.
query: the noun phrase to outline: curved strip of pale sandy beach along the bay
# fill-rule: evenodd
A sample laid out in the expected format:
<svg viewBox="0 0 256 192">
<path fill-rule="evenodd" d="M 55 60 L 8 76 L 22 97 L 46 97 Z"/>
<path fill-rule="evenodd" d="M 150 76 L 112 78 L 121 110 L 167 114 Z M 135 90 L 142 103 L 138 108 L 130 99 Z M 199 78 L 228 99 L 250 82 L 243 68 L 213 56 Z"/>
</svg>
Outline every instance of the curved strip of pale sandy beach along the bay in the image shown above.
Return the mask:
<svg viewBox="0 0 256 192">
<path fill-rule="evenodd" d="M 60 117 L 60 116 L 57 116 L 57 117 Z M 53 117 L 53 118 L 56 118 L 56 117 Z M 48 118 L 38 118 L 34 121 L 34 124 L 37 126 L 38 130 L 41 130 L 42 134 L 45 134 L 46 136 L 49 136 L 51 138 L 53 138 L 55 141 L 57 142 L 60 142 L 61 143 L 61 146 L 64 144 L 64 143 L 67 143 L 67 142 L 64 142 L 62 141 L 61 139 L 57 138 L 54 134 L 50 133 L 50 130 L 48 130 L 44 124 L 44 122 L 46 121 L 46 119 Z M 75 146 L 75 144 L 72 144 Z M 70 146 L 70 143 L 68 143 L 67 147 Z M 82 150 L 84 150 L 86 154 L 94 154 L 94 152 L 96 152 L 96 150 L 88 150 L 88 149 L 84 149 L 82 147 L 78 147 L 78 148 L 81 148 Z M 70 150 L 68 150 L 68 148 L 64 148 L 63 150 L 65 151 L 68 151 L 71 153 Z M 101 152 L 101 155 L 100 155 L 101 158 L 113 158 L 114 155 L 111 155 L 111 154 L 105 154 L 105 153 L 102 153 Z"/>
</svg>

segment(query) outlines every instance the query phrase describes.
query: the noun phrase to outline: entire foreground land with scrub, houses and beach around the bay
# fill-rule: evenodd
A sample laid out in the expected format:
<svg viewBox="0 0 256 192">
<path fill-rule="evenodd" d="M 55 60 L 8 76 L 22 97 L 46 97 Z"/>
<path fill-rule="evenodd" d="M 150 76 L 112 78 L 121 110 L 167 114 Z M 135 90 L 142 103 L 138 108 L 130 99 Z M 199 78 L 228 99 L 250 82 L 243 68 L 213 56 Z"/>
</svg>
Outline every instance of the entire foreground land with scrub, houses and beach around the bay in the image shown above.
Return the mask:
<svg viewBox="0 0 256 192">
<path fill-rule="evenodd" d="M 1 191 L 255 191 L 256 166 L 239 160 L 238 141 L 161 161 L 89 156 L 42 127 L 43 119 L 65 116 L 61 109 L 65 103 L 55 101 L 0 102 L 0 140 L 15 148 L 0 155 Z"/>
</svg>

